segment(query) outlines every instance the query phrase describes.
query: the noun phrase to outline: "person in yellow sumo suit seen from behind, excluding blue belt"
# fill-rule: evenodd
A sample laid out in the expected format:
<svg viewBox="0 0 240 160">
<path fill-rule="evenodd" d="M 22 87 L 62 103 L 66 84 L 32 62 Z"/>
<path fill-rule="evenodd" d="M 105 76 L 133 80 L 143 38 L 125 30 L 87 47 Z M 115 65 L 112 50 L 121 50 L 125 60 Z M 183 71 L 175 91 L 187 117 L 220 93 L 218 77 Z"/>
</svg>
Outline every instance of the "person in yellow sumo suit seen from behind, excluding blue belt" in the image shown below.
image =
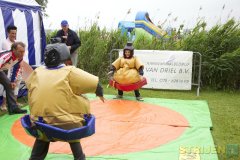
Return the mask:
<svg viewBox="0 0 240 160">
<path fill-rule="evenodd" d="M 36 68 L 26 80 L 30 117 L 62 129 L 84 125 L 84 114 L 90 114 L 89 100 L 82 94 L 96 93 L 104 102 L 98 77 L 64 63 L 70 59 L 63 43 L 47 45 L 44 53 L 46 66 Z M 49 149 L 49 140 L 36 139 L 30 160 L 43 160 Z M 74 160 L 85 160 L 79 140 L 69 142 Z"/>
</svg>

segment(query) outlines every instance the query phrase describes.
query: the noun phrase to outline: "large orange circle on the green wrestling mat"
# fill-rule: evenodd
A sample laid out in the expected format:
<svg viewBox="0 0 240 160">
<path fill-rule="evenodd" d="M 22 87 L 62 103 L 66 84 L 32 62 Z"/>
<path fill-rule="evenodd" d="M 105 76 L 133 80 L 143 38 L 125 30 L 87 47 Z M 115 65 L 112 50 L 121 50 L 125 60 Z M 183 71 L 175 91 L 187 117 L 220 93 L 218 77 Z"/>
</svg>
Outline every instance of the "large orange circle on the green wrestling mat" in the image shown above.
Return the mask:
<svg viewBox="0 0 240 160">
<path fill-rule="evenodd" d="M 96 133 L 81 140 L 87 156 L 124 154 L 153 149 L 182 135 L 188 121 L 178 112 L 165 107 L 128 100 L 91 102 L 96 116 Z M 32 146 L 20 120 L 12 126 L 13 136 Z M 69 153 L 68 143 L 51 143 L 49 153 Z"/>
</svg>

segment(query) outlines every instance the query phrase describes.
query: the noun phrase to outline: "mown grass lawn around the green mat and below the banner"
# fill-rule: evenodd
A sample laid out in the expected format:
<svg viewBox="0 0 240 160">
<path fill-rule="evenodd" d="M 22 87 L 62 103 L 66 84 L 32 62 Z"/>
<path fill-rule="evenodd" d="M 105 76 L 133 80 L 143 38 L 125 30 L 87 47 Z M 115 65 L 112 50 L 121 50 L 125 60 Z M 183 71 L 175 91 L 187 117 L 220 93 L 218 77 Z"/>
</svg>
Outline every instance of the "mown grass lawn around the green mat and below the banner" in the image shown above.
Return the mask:
<svg viewBox="0 0 240 160">
<path fill-rule="evenodd" d="M 117 94 L 117 90 L 103 85 L 104 94 Z M 196 96 L 196 90 L 170 91 L 141 89 L 142 97 L 182 99 L 182 100 L 206 100 L 209 105 L 213 128 L 211 130 L 216 146 L 226 147 L 237 144 L 240 150 L 240 92 L 201 90 L 200 96 Z M 133 92 L 125 92 L 124 95 L 134 96 Z M 23 102 L 20 100 L 20 102 Z M 0 115 L 3 114 L 0 112 Z M 238 151 L 239 152 L 239 151 Z M 219 154 L 219 160 L 225 160 L 225 154 Z M 239 153 L 240 158 L 240 153 Z M 238 159 L 239 159 L 238 158 Z"/>
</svg>

